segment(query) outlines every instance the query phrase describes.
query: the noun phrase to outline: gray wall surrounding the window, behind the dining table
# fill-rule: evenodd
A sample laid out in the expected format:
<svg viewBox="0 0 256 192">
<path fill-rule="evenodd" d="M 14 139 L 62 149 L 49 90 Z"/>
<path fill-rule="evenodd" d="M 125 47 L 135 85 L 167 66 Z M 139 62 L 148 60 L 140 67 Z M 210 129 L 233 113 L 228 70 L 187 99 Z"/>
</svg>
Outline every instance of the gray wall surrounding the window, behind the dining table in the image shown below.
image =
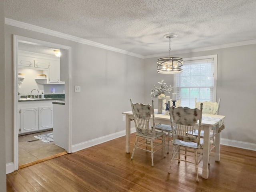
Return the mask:
<svg viewBox="0 0 256 192">
<path fill-rule="evenodd" d="M 221 98 L 220 115 L 225 115 L 222 144 L 256 150 L 256 44 L 218 50 L 178 54 L 176 57 L 218 55 L 217 99 Z M 145 59 L 144 101 L 150 102 L 150 90 L 164 79 L 173 85 L 173 75 L 157 74 L 156 60 Z"/>
</svg>

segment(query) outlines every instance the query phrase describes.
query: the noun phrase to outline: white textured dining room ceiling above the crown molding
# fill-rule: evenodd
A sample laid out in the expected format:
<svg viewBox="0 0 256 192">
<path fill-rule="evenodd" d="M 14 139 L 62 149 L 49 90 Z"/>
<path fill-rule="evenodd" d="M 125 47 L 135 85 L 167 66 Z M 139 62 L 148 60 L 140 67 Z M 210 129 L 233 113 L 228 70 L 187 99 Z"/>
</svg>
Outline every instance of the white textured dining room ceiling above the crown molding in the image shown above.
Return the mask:
<svg viewBox="0 0 256 192">
<path fill-rule="evenodd" d="M 143 56 L 256 40 L 256 0 L 5 0 L 5 17 Z"/>
</svg>

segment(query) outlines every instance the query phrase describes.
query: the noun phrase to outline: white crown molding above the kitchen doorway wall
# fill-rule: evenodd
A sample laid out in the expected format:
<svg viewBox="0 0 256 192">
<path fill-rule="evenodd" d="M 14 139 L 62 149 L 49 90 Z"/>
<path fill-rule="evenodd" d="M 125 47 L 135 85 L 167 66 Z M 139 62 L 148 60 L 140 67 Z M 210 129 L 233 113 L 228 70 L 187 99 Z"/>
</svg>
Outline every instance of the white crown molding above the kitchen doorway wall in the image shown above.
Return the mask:
<svg viewBox="0 0 256 192">
<path fill-rule="evenodd" d="M 28 23 L 12 20 L 9 18 L 5 18 L 5 24 L 144 59 L 144 56 L 142 56 L 140 54 L 136 54 L 136 53 L 118 49 L 118 48 L 114 48 L 111 46 L 107 46 L 104 44 L 100 44 L 100 43 L 86 40 L 83 38 L 79 38 L 76 36 L 64 34 L 61 32 L 54 31 L 54 30 L 46 29 L 43 27 L 31 25 Z"/>
</svg>

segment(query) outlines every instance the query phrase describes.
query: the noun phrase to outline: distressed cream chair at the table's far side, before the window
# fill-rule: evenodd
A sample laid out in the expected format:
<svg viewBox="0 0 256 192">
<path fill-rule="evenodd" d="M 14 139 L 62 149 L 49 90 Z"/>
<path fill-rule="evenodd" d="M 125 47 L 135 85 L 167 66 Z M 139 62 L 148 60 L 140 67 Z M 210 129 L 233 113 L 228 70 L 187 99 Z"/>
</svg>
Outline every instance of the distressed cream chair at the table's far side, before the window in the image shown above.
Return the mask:
<svg viewBox="0 0 256 192">
<path fill-rule="evenodd" d="M 200 108 L 200 104 L 204 105 L 203 108 L 203 114 L 211 114 L 211 115 L 218 115 L 219 114 L 219 109 L 220 109 L 220 99 L 217 102 L 210 102 L 210 101 L 204 101 L 204 102 L 196 102 L 195 99 L 195 107 L 196 108 Z M 215 147 L 215 126 L 212 128 L 212 130 L 210 131 L 210 151 Z M 194 135 L 198 135 L 198 132 L 195 130 Z M 200 137 L 204 138 L 204 131 L 202 130 L 200 133 Z"/>
</svg>

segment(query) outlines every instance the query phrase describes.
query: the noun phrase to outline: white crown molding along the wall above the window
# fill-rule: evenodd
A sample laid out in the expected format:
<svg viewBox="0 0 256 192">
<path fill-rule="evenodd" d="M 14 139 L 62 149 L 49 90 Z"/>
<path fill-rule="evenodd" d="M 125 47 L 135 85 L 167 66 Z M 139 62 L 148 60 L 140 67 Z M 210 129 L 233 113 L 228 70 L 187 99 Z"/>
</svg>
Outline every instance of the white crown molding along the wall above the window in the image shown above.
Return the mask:
<svg viewBox="0 0 256 192">
<path fill-rule="evenodd" d="M 255 40 L 249 40 L 249 41 L 230 43 L 230 44 L 217 45 L 217 46 L 196 48 L 196 49 L 190 49 L 190 50 L 173 51 L 172 54 L 184 54 L 184 53 L 193 53 L 193 52 L 200 52 L 200 51 L 210 51 L 210 50 L 237 47 L 237 46 L 244 46 L 244 45 L 251 45 L 251 44 L 256 44 L 256 39 Z M 166 56 L 166 55 L 169 55 L 169 53 L 147 55 L 147 56 L 144 56 L 144 58 L 146 59 L 146 58 L 154 58 L 154 57 L 163 57 L 163 56 Z"/>
</svg>

